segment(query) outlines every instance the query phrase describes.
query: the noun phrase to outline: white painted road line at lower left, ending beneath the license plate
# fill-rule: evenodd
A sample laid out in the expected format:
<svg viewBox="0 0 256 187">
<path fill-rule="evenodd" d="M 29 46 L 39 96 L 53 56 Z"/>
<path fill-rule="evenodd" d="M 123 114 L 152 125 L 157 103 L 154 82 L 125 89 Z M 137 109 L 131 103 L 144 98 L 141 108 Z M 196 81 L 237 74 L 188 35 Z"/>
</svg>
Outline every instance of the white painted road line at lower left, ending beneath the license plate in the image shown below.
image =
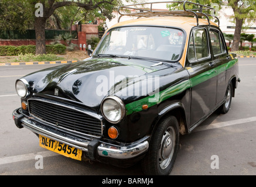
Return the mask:
<svg viewBox="0 0 256 187">
<path fill-rule="evenodd" d="M 45 157 L 52 157 L 52 156 L 56 156 L 56 155 L 60 155 L 60 154 L 54 153 L 53 151 L 43 151 L 43 152 L 38 152 L 38 153 L 17 155 L 17 156 L 13 156 L 13 157 L 5 157 L 5 158 L 0 158 L 0 165 L 11 164 L 13 162 L 35 160 L 36 155 L 42 155 L 42 157 L 45 158 Z"/>
</svg>

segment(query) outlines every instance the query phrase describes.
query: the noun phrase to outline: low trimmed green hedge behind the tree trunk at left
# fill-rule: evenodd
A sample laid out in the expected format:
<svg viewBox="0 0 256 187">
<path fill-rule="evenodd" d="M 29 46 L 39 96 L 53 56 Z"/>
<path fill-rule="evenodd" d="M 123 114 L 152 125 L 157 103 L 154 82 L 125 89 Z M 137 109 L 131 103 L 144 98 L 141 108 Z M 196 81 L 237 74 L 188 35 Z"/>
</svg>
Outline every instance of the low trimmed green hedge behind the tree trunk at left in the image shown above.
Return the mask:
<svg viewBox="0 0 256 187">
<path fill-rule="evenodd" d="M 46 53 L 65 54 L 66 46 L 63 44 L 46 45 Z M 19 54 L 36 53 L 36 46 L 0 46 L 0 56 L 18 56 Z"/>
</svg>

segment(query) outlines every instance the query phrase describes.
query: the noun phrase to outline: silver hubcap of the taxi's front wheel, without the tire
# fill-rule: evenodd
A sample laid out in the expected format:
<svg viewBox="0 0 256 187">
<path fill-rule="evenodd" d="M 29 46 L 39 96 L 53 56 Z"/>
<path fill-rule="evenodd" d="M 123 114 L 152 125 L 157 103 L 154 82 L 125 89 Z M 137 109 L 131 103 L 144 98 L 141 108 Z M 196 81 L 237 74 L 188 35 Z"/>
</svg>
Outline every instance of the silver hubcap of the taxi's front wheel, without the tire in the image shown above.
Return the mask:
<svg viewBox="0 0 256 187">
<path fill-rule="evenodd" d="M 168 127 L 163 134 L 161 140 L 161 147 L 159 150 L 159 166 L 161 169 L 165 169 L 170 164 L 175 148 L 175 129 L 173 127 Z"/>
</svg>

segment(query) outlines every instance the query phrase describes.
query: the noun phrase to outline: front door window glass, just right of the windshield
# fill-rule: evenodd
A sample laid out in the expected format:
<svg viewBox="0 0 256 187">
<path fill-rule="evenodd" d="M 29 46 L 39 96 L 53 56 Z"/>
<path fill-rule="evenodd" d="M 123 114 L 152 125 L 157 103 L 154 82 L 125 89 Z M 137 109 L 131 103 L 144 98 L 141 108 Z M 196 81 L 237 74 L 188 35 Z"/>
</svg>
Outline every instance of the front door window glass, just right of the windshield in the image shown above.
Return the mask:
<svg viewBox="0 0 256 187">
<path fill-rule="evenodd" d="M 206 29 L 194 30 L 190 36 L 187 58 L 193 61 L 206 57 L 209 57 Z"/>
</svg>

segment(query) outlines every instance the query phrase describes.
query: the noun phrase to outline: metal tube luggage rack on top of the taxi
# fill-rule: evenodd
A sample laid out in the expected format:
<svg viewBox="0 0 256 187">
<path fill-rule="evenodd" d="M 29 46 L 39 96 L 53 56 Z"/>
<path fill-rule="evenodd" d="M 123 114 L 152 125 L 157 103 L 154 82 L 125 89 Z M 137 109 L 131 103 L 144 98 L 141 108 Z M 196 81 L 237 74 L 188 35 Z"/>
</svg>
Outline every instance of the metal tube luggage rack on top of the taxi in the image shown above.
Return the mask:
<svg viewBox="0 0 256 187">
<path fill-rule="evenodd" d="M 163 4 L 163 3 L 165 3 L 165 4 L 169 4 L 169 3 L 183 4 L 183 10 L 180 10 L 180 11 L 153 11 L 153 5 Z M 193 5 L 198 6 L 198 8 L 186 9 L 186 7 L 185 7 L 186 4 L 193 4 Z M 144 8 L 145 6 L 150 6 L 150 8 Z M 140 7 L 140 8 L 137 8 L 137 7 Z M 133 10 L 135 12 L 128 13 L 131 10 Z M 118 22 L 120 22 L 120 19 L 122 18 L 122 16 L 136 16 L 138 18 L 149 18 L 152 16 L 194 16 L 194 17 L 196 17 L 196 22 L 197 22 L 197 26 L 198 26 L 199 18 L 203 16 L 208 20 L 209 25 L 210 25 L 209 17 L 216 18 L 218 25 L 220 26 L 220 20 L 217 16 L 210 15 L 209 13 L 204 13 L 203 11 L 214 11 L 214 14 L 216 13 L 215 9 L 210 6 L 196 4 L 194 2 L 189 2 L 189 1 L 146 2 L 146 3 L 142 3 L 142 4 L 120 6 L 118 8 L 118 13 L 120 13 L 121 16 L 118 18 Z"/>
</svg>

